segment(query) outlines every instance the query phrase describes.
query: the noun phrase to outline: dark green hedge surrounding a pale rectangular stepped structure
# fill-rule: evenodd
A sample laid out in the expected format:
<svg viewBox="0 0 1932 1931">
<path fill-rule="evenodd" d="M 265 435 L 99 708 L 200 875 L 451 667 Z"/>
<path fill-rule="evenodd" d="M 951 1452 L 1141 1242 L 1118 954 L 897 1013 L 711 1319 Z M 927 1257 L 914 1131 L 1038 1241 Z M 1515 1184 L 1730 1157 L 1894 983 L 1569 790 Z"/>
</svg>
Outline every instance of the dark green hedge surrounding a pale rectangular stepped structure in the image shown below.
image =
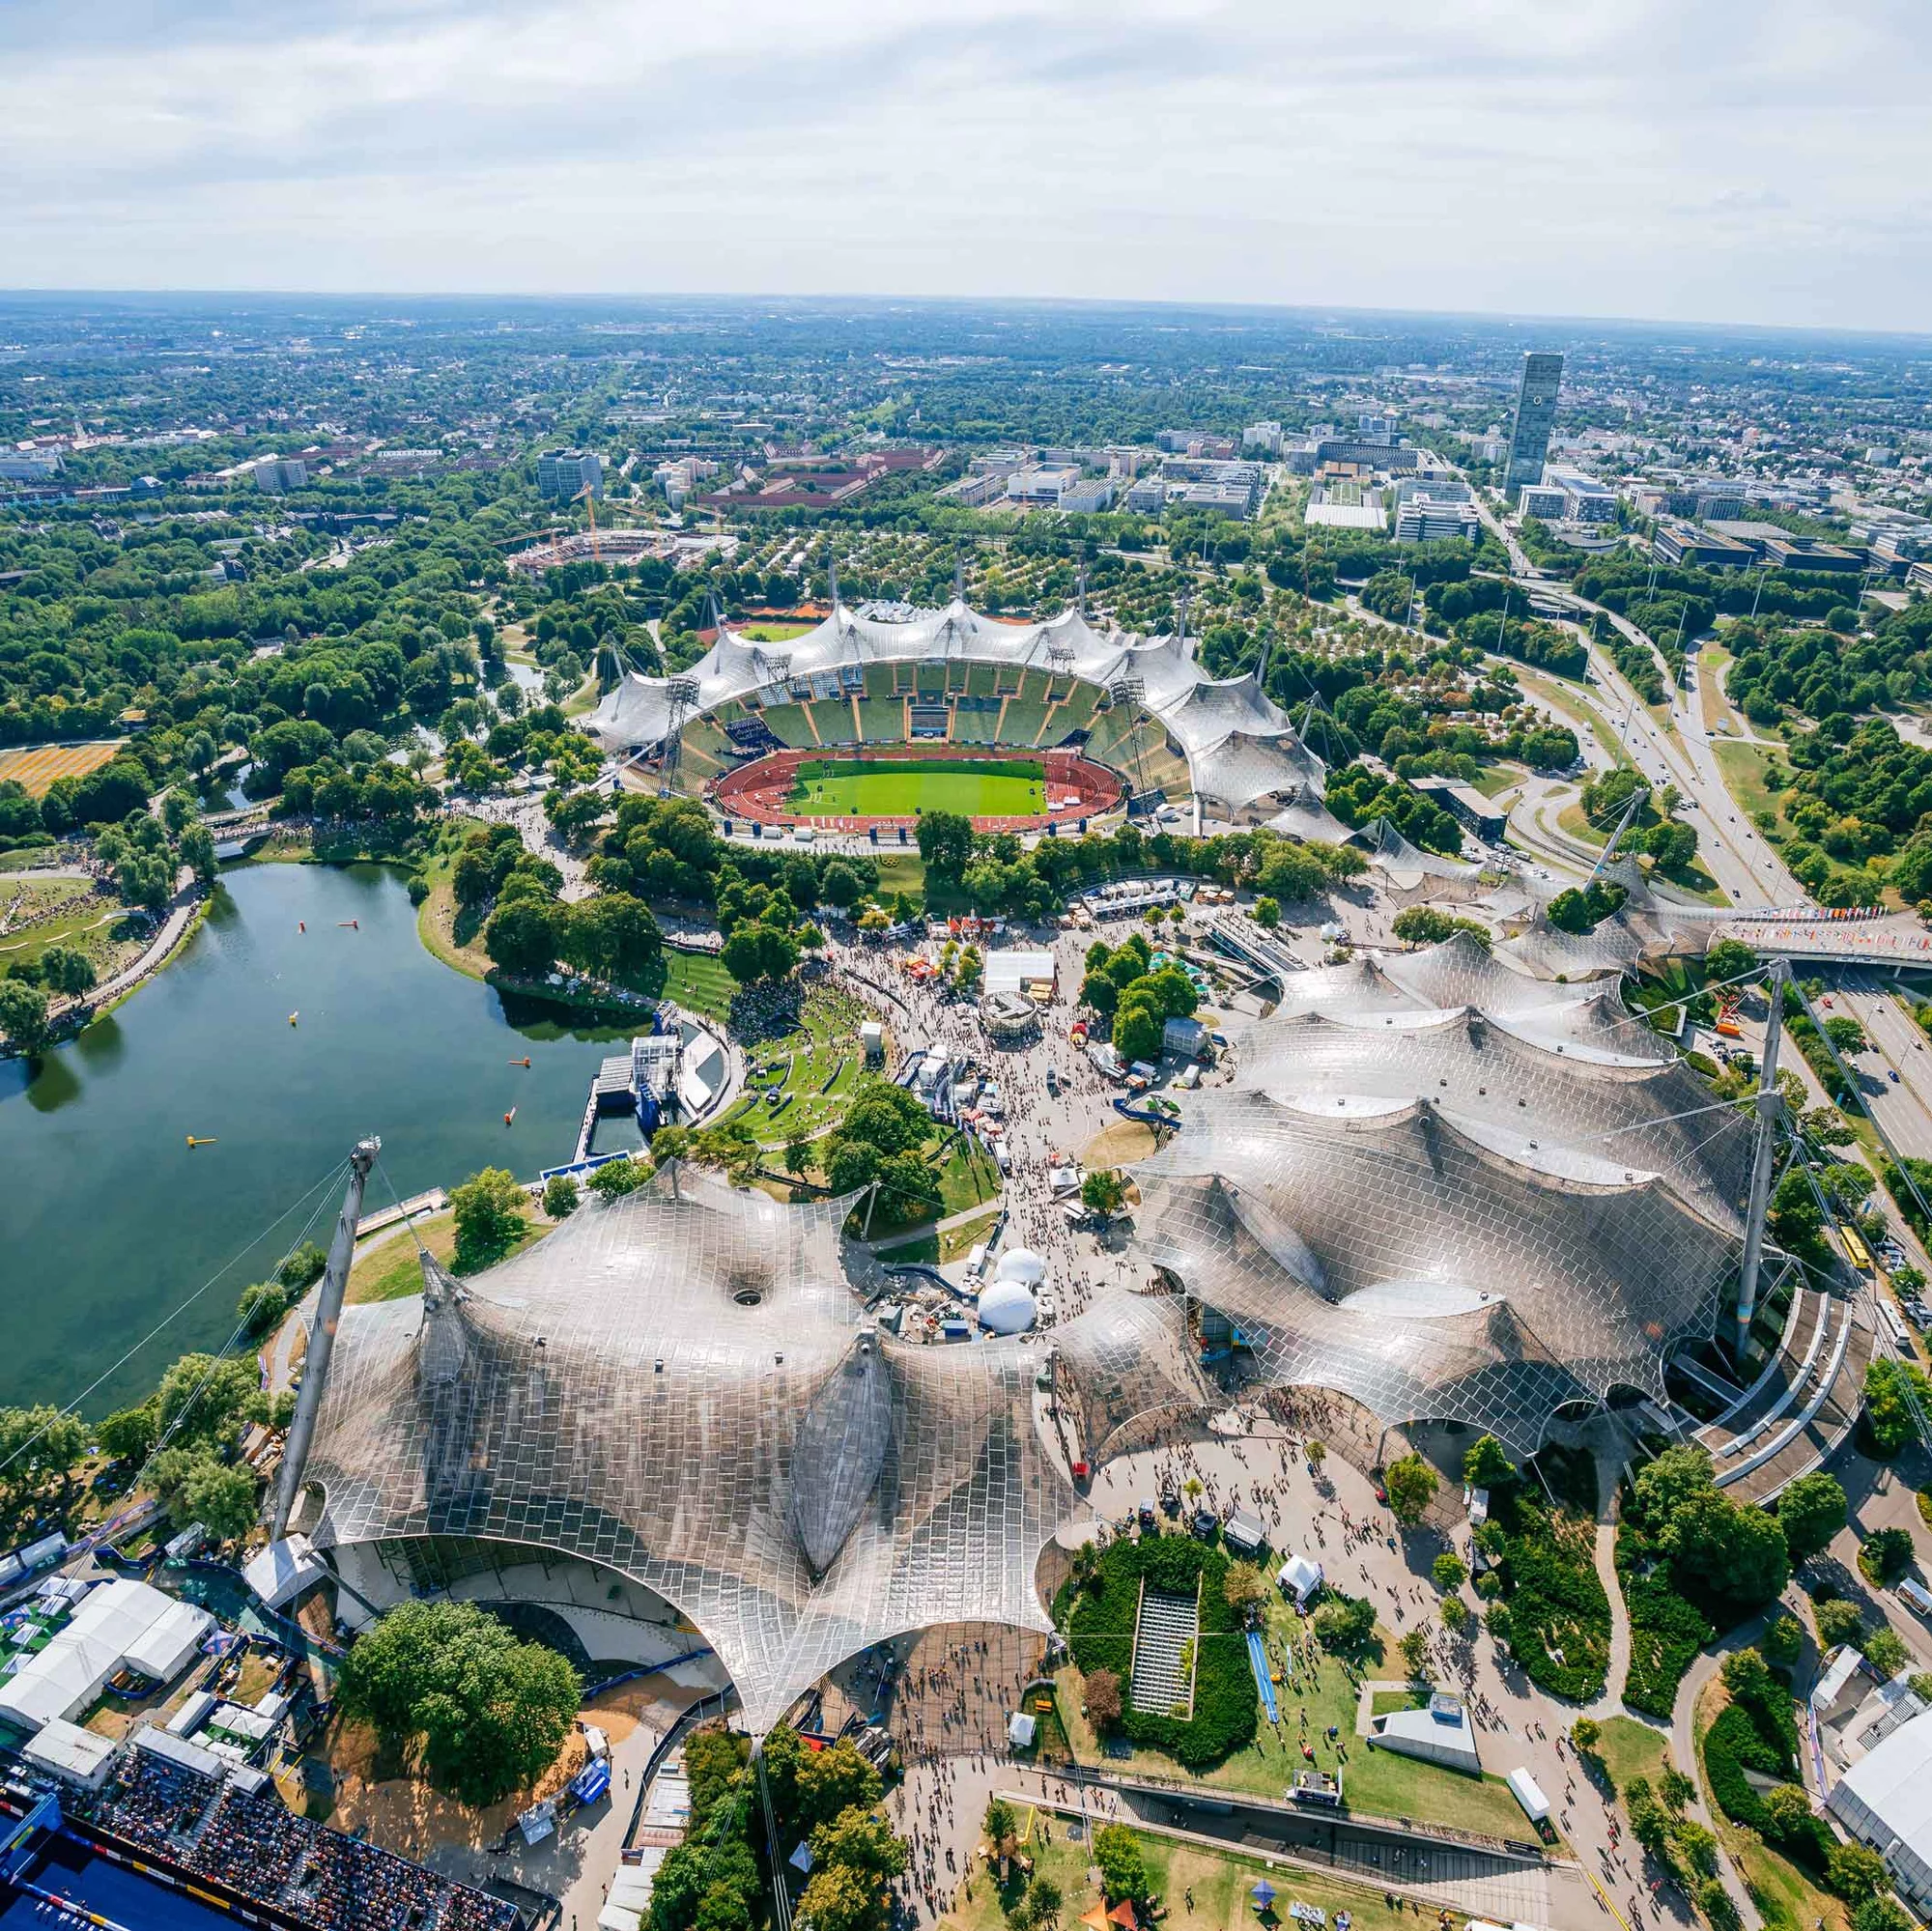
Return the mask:
<svg viewBox="0 0 1932 1931">
<path fill-rule="evenodd" d="M 1194 1591 L 1200 1580 L 1202 1630 L 1194 1661 L 1194 1717 L 1134 1709 L 1134 1610 L 1140 1581 L 1150 1589 Z M 1121 1730 L 1134 1744 L 1165 1749 L 1190 1771 L 1206 1771 L 1254 1742 L 1260 1695 L 1248 1665 L 1240 1618 L 1229 1609 L 1227 1556 L 1184 1535 L 1117 1541 L 1086 1581 L 1068 1583 L 1057 1612 L 1082 1674 L 1113 1670 L 1121 1678 Z"/>
</svg>

